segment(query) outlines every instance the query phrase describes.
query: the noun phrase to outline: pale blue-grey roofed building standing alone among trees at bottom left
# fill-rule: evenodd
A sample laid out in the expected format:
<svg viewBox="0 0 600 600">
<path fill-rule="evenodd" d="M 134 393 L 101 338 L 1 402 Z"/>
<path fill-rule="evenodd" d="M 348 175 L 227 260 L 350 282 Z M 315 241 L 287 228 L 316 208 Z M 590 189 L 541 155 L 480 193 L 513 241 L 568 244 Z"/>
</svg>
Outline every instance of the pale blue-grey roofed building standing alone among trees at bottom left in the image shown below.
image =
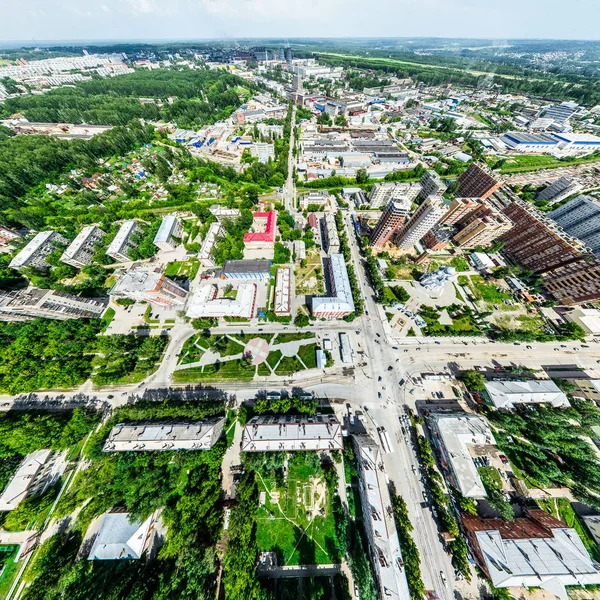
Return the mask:
<svg viewBox="0 0 600 600">
<path fill-rule="evenodd" d="M 106 513 L 88 560 L 139 560 L 150 545 L 154 519 L 131 521 L 129 513 Z"/>
</svg>

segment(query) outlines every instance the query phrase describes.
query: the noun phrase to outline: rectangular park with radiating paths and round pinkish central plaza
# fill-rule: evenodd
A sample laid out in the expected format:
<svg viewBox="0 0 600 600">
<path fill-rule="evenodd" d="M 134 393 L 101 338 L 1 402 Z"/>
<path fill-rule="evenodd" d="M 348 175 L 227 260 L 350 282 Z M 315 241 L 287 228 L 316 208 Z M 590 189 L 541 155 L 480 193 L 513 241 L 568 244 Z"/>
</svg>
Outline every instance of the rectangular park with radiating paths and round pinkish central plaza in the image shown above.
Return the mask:
<svg viewBox="0 0 600 600">
<path fill-rule="evenodd" d="M 198 333 L 186 340 L 173 380 L 179 383 L 282 377 L 317 367 L 312 333 Z"/>
</svg>

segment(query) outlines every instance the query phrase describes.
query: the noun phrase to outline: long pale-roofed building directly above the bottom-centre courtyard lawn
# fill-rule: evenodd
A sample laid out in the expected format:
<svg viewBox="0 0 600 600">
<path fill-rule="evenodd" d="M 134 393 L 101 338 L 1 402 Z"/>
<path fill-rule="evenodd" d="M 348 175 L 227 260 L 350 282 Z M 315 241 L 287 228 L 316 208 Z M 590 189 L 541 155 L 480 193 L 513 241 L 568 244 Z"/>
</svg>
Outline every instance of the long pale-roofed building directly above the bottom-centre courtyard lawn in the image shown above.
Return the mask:
<svg viewBox="0 0 600 600">
<path fill-rule="evenodd" d="M 334 415 L 263 415 L 244 427 L 242 452 L 342 450 L 342 424 Z"/>
</svg>

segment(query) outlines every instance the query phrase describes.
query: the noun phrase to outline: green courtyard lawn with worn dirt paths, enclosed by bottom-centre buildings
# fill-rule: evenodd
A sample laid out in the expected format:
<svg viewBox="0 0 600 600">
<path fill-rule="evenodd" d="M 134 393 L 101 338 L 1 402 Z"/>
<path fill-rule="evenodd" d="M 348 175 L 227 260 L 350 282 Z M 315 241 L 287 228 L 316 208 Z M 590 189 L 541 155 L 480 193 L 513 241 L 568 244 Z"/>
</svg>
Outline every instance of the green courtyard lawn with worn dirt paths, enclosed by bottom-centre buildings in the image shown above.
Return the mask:
<svg viewBox="0 0 600 600">
<path fill-rule="evenodd" d="M 332 498 L 316 452 L 290 456 L 287 477 L 257 471 L 260 492 L 256 539 L 280 565 L 336 562 Z"/>
</svg>

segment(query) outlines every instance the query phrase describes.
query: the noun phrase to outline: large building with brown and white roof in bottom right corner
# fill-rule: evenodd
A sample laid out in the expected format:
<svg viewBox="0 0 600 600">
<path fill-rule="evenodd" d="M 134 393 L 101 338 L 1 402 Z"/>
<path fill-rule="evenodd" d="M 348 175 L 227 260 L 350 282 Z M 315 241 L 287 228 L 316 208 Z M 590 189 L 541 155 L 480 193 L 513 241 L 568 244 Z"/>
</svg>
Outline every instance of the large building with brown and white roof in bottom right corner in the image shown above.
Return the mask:
<svg viewBox="0 0 600 600">
<path fill-rule="evenodd" d="M 579 534 L 541 509 L 514 521 L 462 516 L 477 566 L 497 588 L 542 588 L 568 600 L 565 586 L 600 583 Z"/>
</svg>

